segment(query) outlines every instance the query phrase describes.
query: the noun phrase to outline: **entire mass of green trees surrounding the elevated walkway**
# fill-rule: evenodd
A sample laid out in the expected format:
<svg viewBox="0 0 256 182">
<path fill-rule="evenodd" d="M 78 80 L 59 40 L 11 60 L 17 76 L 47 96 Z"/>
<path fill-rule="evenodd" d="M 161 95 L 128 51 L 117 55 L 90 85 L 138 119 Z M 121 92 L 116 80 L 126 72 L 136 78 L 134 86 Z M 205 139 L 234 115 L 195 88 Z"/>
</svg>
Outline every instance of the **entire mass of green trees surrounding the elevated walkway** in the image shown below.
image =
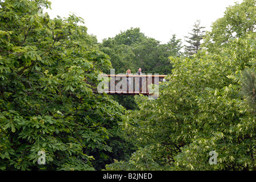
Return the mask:
<svg viewBox="0 0 256 182">
<path fill-rule="evenodd" d="M 0 1 L 0 170 L 256 169 L 255 0 L 191 38 L 193 56 L 138 27 L 98 43 L 40 3 Z M 94 92 L 99 73 L 139 67 L 167 75 L 157 99 Z"/>
</svg>

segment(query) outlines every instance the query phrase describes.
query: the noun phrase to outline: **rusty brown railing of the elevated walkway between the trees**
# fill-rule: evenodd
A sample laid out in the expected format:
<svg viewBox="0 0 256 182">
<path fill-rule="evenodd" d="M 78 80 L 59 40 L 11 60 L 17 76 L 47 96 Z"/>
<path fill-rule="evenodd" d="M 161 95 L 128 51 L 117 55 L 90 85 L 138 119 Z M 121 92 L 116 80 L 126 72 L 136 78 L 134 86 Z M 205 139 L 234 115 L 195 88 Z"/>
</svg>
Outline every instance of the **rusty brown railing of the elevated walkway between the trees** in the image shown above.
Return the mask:
<svg viewBox="0 0 256 182">
<path fill-rule="evenodd" d="M 99 93 L 107 94 L 154 94 L 159 82 L 165 81 L 167 75 L 99 75 L 102 80 L 98 85 Z M 102 79 L 103 78 L 103 79 Z M 152 85 L 157 85 L 152 89 Z"/>
</svg>

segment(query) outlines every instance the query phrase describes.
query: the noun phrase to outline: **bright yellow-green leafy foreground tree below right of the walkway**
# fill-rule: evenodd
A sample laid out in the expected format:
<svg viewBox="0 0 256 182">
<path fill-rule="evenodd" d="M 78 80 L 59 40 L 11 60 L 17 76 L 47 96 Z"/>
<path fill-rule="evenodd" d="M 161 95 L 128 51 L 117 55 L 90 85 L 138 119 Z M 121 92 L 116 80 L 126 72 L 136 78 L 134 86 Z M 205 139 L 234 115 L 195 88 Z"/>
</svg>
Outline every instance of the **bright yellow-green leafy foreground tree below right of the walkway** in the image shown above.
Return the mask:
<svg viewBox="0 0 256 182">
<path fill-rule="evenodd" d="M 227 64 L 233 57 L 225 53 L 173 58 L 177 76 L 160 85 L 157 100 L 136 97 L 140 110 L 123 124 L 139 149 L 129 162 L 107 169 L 255 169 L 255 117 L 232 76 L 238 67 Z M 216 165 L 209 163 L 210 151 L 218 154 Z"/>
</svg>

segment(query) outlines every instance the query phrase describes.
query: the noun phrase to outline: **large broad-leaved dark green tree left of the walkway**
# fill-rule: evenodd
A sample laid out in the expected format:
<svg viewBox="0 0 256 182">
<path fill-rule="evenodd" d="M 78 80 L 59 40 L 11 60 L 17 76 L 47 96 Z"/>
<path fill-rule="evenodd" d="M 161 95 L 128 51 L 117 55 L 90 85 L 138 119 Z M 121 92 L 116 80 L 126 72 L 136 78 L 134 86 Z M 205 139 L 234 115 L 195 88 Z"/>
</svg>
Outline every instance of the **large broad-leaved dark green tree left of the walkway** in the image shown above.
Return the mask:
<svg viewBox="0 0 256 182">
<path fill-rule="evenodd" d="M 0 2 L 0 169 L 93 170 L 90 152 L 110 152 L 109 129 L 123 119 L 122 106 L 93 93 L 111 62 L 81 18 L 50 19 L 39 3 L 50 7 Z"/>
</svg>

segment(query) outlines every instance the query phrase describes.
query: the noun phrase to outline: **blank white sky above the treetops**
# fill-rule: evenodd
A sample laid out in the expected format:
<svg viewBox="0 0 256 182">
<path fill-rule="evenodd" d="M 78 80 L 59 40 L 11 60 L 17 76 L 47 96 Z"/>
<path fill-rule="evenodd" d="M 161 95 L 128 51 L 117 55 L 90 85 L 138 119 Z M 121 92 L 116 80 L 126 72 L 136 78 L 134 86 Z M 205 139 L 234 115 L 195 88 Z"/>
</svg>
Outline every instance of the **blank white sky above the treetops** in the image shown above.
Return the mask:
<svg viewBox="0 0 256 182">
<path fill-rule="evenodd" d="M 173 34 L 182 39 L 191 32 L 196 20 L 205 30 L 222 18 L 226 7 L 242 0 L 50 0 L 51 18 L 75 13 L 85 20 L 87 33 L 97 36 L 98 42 L 113 38 L 120 31 L 139 27 L 150 38 L 169 42 Z M 44 10 L 45 11 L 45 10 Z"/>
</svg>

